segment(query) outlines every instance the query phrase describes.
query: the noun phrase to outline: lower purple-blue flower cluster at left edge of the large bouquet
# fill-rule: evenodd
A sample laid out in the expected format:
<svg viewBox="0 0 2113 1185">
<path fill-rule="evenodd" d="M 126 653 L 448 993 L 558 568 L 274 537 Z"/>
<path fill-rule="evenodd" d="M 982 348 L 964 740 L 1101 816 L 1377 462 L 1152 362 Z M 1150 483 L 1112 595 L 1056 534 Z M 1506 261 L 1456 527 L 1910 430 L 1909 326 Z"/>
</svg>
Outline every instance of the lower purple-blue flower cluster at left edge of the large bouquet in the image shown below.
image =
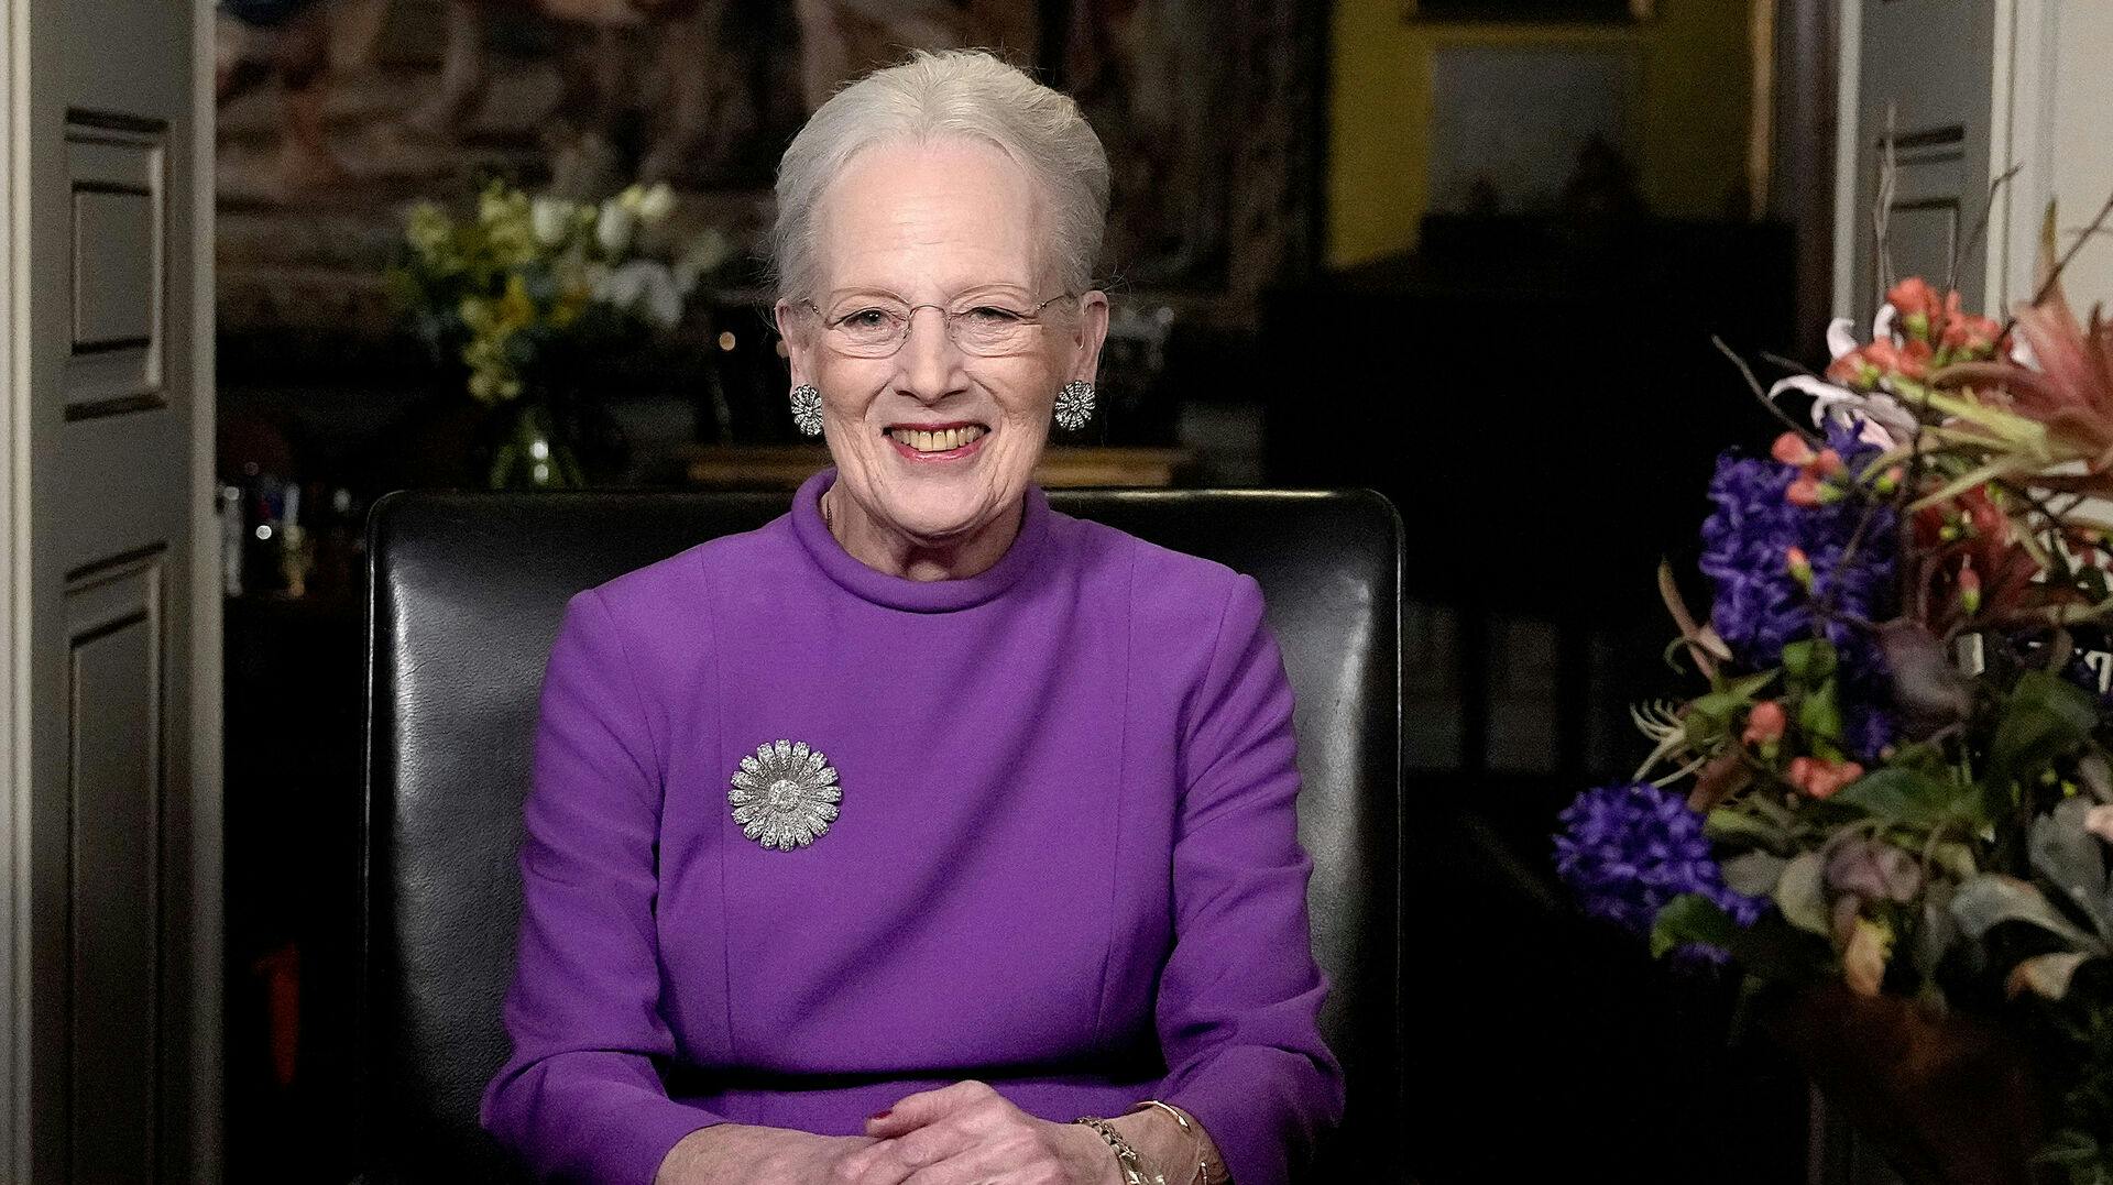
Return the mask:
<svg viewBox="0 0 2113 1185">
<path fill-rule="evenodd" d="M 1597 786 L 1570 803 L 1562 824 L 1555 872 L 1591 917 L 1650 934 L 1659 910 L 1682 894 L 1709 898 L 1739 925 L 1754 925 L 1769 908 L 1724 885 L 1703 817 L 1671 790 L 1644 782 Z M 1724 961 L 1724 951 L 1699 944 L 1682 955 Z"/>
</svg>

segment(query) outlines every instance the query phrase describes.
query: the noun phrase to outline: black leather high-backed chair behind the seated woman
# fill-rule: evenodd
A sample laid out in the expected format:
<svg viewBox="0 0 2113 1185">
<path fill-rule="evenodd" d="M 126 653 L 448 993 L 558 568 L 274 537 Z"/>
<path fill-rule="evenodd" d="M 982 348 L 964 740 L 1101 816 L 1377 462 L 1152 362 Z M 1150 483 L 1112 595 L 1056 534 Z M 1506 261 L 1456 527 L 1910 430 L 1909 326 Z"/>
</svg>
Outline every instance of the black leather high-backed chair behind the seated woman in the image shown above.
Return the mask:
<svg viewBox="0 0 2113 1185">
<path fill-rule="evenodd" d="M 1261 581 L 1297 693 L 1323 1016 L 1350 1115 L 1321 1181 L 1401 1179 L 1401 520 L 1371 492 L 1054 492 Z M 478 1128 L 507 1054 L 522 796 L 571 594 L 763 526 L 782 494 L 391 494 L 368 524 L 363 1181 L 516 1172 Z"/>
</svg>

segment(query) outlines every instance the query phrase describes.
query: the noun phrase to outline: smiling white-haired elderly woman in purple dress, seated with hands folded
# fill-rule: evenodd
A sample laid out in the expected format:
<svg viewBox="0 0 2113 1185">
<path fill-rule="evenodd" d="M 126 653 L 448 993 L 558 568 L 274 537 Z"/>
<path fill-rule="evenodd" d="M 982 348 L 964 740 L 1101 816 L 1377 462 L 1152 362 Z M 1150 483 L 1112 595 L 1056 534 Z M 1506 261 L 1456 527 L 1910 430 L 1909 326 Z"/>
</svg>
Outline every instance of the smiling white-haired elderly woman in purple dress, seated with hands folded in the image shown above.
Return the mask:
<svg viewBox="0 0 2113 1185">
<path fill-rule="evenodd" d="M 1031 482 L 1107 334 L 1063 95 L 917 55 L 778 175 L 792 511 L 573 598 L 513 1056 L 547 1179 L 1280 1185 L 1342 1111 L 1253 579 Z"/>
</svg>

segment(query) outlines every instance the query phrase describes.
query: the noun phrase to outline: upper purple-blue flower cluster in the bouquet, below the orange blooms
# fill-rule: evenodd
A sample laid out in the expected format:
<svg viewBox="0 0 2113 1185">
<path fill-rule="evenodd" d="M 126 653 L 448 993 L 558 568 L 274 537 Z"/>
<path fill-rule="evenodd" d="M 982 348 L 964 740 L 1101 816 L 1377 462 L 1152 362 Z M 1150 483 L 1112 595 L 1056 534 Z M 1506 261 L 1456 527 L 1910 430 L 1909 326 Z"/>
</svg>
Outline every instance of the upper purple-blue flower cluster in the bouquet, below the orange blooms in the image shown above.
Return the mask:
<svg viewBox="0 0 2113 1185">
<path fill-rule="evenodd" d="M 1876 446 L 1857 439 L 1862 422 L 1828 429 L 1849 471 L 1868 465 Z M 1701 570 L 1716 600 L 1709 623 L 1747 670 L 1783 661 L 1783 646 L 1821 636 L 1840 659 L 1840 703 L 1849 725 L 1845 746 L 1870 760 L 1893 735 L 1885 659 L 1862 623 L 1887 621 L 1895 610 L 1900 518 L 1891 507 L 1870 509 L 1859 496 L 1815 507 L 1794 505 L 1790 484 L 1800 467 L 1769 456 L 1718 456 L 1703 522 Z M 1857 537 L 1857 524 L 1870 522 Z M 1855 539 L 1855 553 L 1849 541 Z M 1790 570 L 1790 549 L 1811 564 L 1811 587 Z M 1847 560 L 1847 562 L 1845 562 Z"/>
</svg>

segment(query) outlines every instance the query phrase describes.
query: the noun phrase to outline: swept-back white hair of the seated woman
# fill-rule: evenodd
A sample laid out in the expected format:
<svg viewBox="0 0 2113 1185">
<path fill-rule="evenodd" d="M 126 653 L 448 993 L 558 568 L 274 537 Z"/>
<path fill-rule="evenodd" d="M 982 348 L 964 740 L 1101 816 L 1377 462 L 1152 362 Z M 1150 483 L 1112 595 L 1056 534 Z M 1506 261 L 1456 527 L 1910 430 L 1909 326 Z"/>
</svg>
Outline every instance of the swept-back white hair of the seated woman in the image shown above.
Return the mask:
<svg viewBox="0 0 2113 1185">
<path fill-rule="evenodd" d="M 980 139 L 1042 186 L 1054 220 L 1050 256 L 1069 291 L 1092 287 L 1107 230 L 1107 150 L 1069 95 L 980 49 L 917 51 L 830 95 L 778 163 L 771 281 L 811 296 L 814 211 L 854 156 L 879 144 Z"/>
</svg>

